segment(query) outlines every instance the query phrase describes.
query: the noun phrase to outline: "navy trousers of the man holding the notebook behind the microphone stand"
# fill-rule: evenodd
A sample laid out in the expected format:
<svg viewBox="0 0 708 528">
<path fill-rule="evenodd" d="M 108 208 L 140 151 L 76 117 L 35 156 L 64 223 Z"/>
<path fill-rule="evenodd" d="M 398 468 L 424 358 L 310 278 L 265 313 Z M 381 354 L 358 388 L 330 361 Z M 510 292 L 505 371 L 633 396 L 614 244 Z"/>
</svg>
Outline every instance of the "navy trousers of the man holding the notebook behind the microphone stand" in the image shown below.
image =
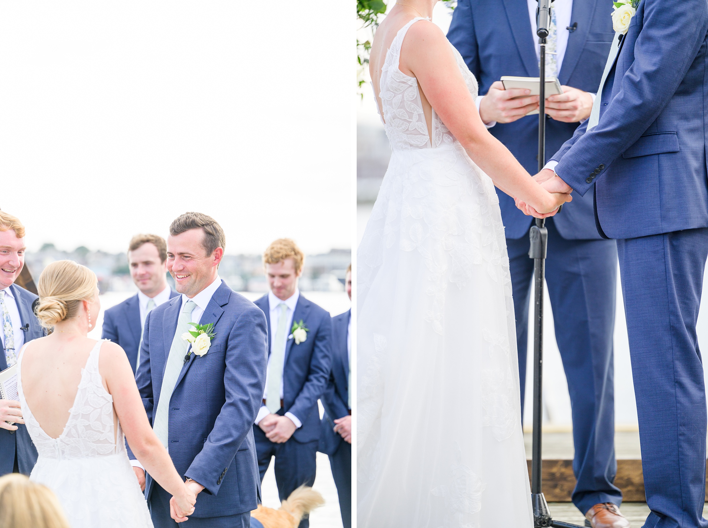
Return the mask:
<svg viewBox="0 0 708 528">
<path fill-rule="evenodd" d="M 598 503 L 622 503 L 614 486 L 615 240 L 566 240 L 553 219 L 546 221 L 546 282 L 556 342 L 568 380 L 573 419 L 573 504 L 587 512 Z M 533 279 L 529 238 L 506 240 L 516 315 L 521 409 L 523 415 L 528 344 L 528 309 Z M 549 382 L 550 380 L 547 380 Z"/>
</svg>

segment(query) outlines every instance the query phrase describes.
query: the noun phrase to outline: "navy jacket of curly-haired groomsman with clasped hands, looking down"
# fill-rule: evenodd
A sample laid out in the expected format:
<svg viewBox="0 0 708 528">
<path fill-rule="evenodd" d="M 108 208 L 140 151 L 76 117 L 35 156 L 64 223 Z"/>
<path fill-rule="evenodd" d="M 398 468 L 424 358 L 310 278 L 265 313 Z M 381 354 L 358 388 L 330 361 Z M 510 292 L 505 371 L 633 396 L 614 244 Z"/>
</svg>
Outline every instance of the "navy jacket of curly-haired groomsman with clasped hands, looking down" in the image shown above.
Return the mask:
<svg viewBox="0 0 708 528">
<path fill-rule="evenodd" d="M 256 300 L 268 321 L 268 357 L 270 357 L 270 303 L 268 295 Z M 295 339 L 285 344 L 285 364 L 282 369 L 285 412 L 291 412 L 302 422 L 292 438 L 298 442 L 319 440 L 319 407 L 317 400 L 327 387 L 331 365 L 332 322 L 329 312 L 304 298 L 300 293 L 292 322 L 302 319 L 309 329 L 307 339 L 299 345 Z M 261 393 L 261 399 L 263 393 Z M 253 416 L 255 419 L 256 417 Z"/>
</svg>

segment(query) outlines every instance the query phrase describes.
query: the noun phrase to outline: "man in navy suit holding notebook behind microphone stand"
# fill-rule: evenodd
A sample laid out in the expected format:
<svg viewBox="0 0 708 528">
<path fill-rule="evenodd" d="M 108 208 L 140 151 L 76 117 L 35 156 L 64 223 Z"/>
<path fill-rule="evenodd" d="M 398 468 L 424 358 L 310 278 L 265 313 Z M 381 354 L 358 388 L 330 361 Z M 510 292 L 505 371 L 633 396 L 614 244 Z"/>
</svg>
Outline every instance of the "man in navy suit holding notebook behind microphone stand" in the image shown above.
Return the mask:
<svg viewBox="0 0 708 528">
<path fill-rule="evenodd" d="M 531 174 L 538 169 L 538 96 L 504 90 L 501 76 L 539 75 L 536 0 L 459 0 L 447 37 L 479 80 L 479 114 Z M 564 93 L 547 101 L 546 143 L 555 152 L 590 115 L 610 49 L 611 0 L 556 0 L 547 39 L 547 76 Z M 536 51 L 535 51 L 536 50 Z M 516 315 L 523 409 L 528 307 L 533 260 L 528 257 L 532 218 L 497 191 L 506 228 Z M 593 527 L 627 526 L 615 511 L 622 492 L 614 486 L 615 414 L 612 335 L 615 324 L 617 248 L 595 228 L 593 192 L 573 199 L 547 220 L 546 261 L 556 342 L 563 360 L 573 418 L 576 488 L 573 503 Z M 617 524 L 619 523 L 619 524 Z"/>
</svg>

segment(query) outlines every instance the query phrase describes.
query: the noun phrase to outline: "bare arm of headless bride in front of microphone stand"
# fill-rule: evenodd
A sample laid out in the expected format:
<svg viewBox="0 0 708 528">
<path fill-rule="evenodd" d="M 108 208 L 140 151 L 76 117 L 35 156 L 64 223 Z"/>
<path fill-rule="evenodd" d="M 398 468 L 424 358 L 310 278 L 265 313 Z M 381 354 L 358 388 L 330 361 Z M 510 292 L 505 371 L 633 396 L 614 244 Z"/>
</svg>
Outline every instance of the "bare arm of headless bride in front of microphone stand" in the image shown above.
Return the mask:
<svg viewBox="0 0 708 528">
<path fill-rule="evenodd" d="M 459 71 L 450 42 L 433 23 L 413 24 L 401 47 L 401 70 L 418 79 L 430 105 L 474 163 L 503 192 L 550 213 L 568 194 L 551 194 L 537 184 L 508 148 L 489 134 Z"/>
</svg>

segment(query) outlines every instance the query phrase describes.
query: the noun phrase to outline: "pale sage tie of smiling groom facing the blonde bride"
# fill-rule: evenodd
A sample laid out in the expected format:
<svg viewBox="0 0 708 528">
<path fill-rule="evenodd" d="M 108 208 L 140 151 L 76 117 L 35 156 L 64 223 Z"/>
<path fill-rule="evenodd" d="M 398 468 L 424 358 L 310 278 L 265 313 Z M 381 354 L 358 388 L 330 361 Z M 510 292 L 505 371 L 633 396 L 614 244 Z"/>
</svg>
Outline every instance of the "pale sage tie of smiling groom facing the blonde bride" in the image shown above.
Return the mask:
<svg viewBox="0 0 708 528">
<path fill-rule="evenodd" d="M 188 300 L 184 304 L 182 313 L 179 316 L 175 336 L 172 339 L 172 346 L 170 347 L 170 355 L 167 358 L 167 365 L 165 366 L 165 374 L 162 377 L 160 401 L 157 404 L 155 419 L 152 422 L 152 428 L 157 438 L 160 439 L 160 442 L 162 442 L 162 445 L 165 447 L 167 447 L 170 399 L 175 389 L 179 373 L 182 371 L 184 365 L 185 353 L 187 353 L 187 349 L 189 348 L 189 343 L 182 339 L 182 334 L 188 331 L 189 324 L 192 322 L 192 310 L 194 310 L 196 306 L 193 300 Z"/>
</svg>

